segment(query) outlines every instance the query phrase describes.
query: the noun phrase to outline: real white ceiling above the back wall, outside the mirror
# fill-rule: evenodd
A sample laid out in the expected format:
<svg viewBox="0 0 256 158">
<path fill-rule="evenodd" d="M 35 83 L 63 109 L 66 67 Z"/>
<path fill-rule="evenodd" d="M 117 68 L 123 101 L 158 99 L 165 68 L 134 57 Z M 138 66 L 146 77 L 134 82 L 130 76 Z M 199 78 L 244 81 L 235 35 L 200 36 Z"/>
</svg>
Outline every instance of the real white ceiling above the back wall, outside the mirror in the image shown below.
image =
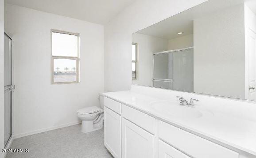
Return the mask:
<svg viewBox="0 0 256 158">
<path fill-rule="evenodd" d="M 135 0 L 4 0 L 5 3 L 32 8 L 97 24 L 108 23 Z"/>
</svg>

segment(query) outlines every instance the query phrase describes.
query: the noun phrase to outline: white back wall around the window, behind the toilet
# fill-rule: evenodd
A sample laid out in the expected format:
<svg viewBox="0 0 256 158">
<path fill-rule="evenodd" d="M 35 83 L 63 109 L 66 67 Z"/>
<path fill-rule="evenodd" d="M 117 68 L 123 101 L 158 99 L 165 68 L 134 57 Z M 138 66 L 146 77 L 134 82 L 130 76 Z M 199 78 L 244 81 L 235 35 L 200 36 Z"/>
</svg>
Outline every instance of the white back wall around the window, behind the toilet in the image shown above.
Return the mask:
<svg viewBox="0 0 256 158">
<path fill-rule="evenodd" d="M 104 90 L 102 25 L 10 4 L 4 20 L 13 39 L 16 137 L 75 124 L 78 109 L 99 105 L 98 93 Z M 50 29 L 80 33 L 80 83 L 50 84 Z"/>
</svg>

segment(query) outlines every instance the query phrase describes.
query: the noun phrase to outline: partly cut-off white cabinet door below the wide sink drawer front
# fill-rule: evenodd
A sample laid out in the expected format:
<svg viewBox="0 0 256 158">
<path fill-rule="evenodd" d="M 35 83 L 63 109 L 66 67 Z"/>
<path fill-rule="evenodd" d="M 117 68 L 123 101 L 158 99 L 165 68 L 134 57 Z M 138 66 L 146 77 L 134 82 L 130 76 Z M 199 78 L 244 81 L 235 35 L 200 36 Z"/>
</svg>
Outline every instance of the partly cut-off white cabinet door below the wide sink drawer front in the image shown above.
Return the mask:
<svg viewBox="0 0 256 158">
<path fill-rule="evenodd" d="M 162 140 L 158 141 L 158 158 L 189 158 L 179 150 L 171 147 L 169 144 L 164 143 Z"/>
</svg>

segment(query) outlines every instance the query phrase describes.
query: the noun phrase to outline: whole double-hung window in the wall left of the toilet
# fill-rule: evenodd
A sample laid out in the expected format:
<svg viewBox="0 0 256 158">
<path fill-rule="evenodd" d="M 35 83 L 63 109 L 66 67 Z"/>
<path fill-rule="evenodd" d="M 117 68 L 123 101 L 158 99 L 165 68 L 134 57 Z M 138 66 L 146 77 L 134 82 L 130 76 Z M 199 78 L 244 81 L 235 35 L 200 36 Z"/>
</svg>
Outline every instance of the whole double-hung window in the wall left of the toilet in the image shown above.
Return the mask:
<svg viewBox="0 0 256 158">
<path fill-rule="evenodd" d="M 79 34 L 51 30 L 51 83 L 79 82 Z"/>
</svg>

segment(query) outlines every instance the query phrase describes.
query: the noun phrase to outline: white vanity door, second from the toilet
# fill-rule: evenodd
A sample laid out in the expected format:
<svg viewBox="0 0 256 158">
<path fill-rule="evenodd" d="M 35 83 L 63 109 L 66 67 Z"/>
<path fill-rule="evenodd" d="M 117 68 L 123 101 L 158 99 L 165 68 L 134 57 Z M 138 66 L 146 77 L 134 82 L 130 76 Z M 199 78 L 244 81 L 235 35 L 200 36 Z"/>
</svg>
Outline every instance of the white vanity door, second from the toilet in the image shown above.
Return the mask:
<svg viewBox="0 0 256 158">
<path fill-rule="evenodd" d="M 122 158 L 155 158 L 155 137 L 122 118 Z"/>
</svg>

